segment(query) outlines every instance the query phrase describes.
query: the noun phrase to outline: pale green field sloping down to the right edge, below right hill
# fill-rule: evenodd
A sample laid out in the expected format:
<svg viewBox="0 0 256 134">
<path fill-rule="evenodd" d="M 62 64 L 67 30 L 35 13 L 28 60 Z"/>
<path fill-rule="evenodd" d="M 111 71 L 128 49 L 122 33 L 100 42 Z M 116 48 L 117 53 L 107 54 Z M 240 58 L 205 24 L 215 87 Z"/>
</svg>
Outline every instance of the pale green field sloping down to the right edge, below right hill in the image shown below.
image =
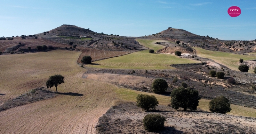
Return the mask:
<svg viewBox="0 0 256 134">
<path fill-rule="evenodd" d="M 218 51 L 209 51 L 202 48 L 193 47 L 196 49 L 196 53 L 198 56 L 203 58 L 209 58 L 214 60 L 215 62 L 218 62 L 224 66 L 227 66 L 228 68 L 232 70 L 238 70 L 238 63 L 239 59 L 244 60 L 254 60 L 256 59 L 256 56 L 254 55 L 241 55 L 241 54 L 233 54 L 233 53 L 226 53 L 226 52 L 218 52 Z M 253 73 L 252 69 L 249 69 L 249 73 Z"/>
</svg>

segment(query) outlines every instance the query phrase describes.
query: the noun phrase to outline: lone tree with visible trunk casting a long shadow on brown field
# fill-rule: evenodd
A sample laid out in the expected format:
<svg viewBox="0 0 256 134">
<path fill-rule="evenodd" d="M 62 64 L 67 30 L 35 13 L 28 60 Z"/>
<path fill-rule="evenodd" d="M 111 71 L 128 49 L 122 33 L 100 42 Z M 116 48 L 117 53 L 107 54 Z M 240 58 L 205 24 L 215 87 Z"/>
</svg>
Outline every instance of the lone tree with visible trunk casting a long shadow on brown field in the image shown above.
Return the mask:
<svg viewBox="0 0 256 134">
<path fill-rule="evenodd" d="M 47 88 L 52 88 L 55 86 L 56 92 L 58 93 L 57 86 L 61 83 L 64 83 L 64 77 L 60 74 L 55 74 L 50 76 L 49 80 L 46 81 Z"/>
</svg>

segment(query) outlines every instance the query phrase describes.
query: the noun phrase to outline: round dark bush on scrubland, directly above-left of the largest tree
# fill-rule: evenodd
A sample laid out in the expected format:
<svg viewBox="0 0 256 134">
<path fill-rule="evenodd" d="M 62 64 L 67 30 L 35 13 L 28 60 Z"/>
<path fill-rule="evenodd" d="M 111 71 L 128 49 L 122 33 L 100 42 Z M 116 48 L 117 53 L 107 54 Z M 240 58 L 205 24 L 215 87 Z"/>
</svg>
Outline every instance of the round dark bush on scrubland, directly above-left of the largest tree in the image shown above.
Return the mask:
<svg viewBox="0 0 256 134">
<path fill-rule="evenodd" d="M 161 94 L 167 90 L 168 84 L 164 79 L 157 78 L 155 81 L 153 81 L 152 88 L 153 88 L 154 93 Z"/>
</svg>

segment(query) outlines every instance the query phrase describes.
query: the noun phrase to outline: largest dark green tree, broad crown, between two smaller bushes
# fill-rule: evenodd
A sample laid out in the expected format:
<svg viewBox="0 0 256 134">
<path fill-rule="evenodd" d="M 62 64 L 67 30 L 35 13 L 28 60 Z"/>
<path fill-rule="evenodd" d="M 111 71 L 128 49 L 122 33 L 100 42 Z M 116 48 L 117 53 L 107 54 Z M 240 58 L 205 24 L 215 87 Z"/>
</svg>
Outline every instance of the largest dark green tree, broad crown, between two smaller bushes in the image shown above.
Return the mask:
<svg viewBox="0 0 256 134">
<path fill-rule="evenodd" d="M 196 110 L 201 97 L 198 95 L 198 91 L 191 88 L 174 88 L 171 93 L 171 106 L 174 109 L 183 108 Z"/>
</svg>

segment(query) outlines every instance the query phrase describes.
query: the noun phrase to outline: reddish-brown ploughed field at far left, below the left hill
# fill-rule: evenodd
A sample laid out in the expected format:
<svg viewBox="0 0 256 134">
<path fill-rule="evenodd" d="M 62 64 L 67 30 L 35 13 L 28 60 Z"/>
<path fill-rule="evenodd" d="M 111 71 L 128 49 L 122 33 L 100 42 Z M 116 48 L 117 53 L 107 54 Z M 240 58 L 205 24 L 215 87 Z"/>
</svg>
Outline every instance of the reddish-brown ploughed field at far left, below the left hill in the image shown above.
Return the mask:
<svg viewBox="0 0 256 134">
<path fill-rule="evenodd" d="M 32 49 L 36 48 L 36 46 L 53 46 L 53 47 L 69 47 L 70 45 L 61 44 L 58 42 L 46 40 L 46 39 L 14 39 L 14 40 L 0 40 L 0 51 L 4 52 L 5 48 L 12 47 L 18 45 L 19 42 L 25 44 L 25 46 L 21 46 L 20 49 L 27 49 L 30 46 Z"/>
</svg>

